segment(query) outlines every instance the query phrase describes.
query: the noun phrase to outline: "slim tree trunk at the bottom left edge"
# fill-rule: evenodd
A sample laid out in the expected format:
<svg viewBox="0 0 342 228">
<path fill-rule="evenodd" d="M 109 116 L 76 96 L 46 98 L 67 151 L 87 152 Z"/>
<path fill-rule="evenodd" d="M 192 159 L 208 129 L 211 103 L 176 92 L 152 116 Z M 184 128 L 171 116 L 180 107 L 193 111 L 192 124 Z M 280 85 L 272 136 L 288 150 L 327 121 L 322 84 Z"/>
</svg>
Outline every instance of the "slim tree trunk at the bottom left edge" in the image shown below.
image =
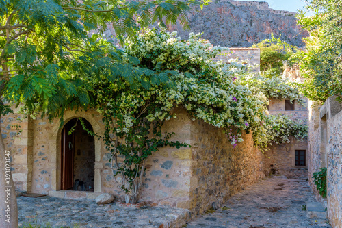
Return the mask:
<svg viewBox="0 0 342 228">
<path fill-rule="evenodd" d="M 0 116 L 1 117 L 1 116 Z M 18 227 L 16 191 L 10 172 L 10 153 L 6 153 L 0 128 L 0 227 Z"/>
</svg>

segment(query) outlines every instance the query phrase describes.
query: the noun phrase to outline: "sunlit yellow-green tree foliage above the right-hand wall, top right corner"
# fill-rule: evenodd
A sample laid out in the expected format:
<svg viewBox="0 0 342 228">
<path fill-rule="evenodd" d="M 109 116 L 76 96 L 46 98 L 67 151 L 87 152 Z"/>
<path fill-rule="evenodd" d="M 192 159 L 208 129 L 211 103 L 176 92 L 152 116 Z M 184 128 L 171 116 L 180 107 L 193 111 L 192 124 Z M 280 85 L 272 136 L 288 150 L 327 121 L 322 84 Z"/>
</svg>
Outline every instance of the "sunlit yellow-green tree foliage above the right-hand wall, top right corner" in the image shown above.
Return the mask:
<svg viewBox="0 0 342 228">
<path fill-rule="evenodd" d="M 307 10 L 314 16 L 298 14 L 298 24 L 310 36 L 304 38 L 306 50 L 296 53 L 300 73 L 305 78 L 302 92 L 313 101 L 324 102 L 342 93 L 342 5 L 339 0 L 308 1 Z"/>
</svg>

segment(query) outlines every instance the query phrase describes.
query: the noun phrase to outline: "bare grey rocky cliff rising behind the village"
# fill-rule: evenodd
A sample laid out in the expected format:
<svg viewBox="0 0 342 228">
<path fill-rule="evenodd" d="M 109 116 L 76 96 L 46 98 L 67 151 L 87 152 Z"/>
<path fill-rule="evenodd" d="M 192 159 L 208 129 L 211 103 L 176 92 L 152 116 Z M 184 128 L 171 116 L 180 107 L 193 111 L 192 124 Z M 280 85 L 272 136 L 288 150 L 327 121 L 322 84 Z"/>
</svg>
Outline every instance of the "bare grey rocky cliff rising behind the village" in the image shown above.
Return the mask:
<svg viewBox="0 0 342 228">
<path fill-rule="evenodd" d="M 268 3 L 258 1 L 213 0 L 203 10 L 194 8 L 189 23 L 190 31 L 184 31 L 180 25 L 170 26 L 169 30 L 178 31 L 183 39 L 189 37 L 189 32 L 203 32 L 202 38 L 223 47 L 250 47 L 270 38 L 272 33 L 302 47 L 302 38 L 308 36 L 297 25 L 294 12 L 273 10 Z"/>
</svg>

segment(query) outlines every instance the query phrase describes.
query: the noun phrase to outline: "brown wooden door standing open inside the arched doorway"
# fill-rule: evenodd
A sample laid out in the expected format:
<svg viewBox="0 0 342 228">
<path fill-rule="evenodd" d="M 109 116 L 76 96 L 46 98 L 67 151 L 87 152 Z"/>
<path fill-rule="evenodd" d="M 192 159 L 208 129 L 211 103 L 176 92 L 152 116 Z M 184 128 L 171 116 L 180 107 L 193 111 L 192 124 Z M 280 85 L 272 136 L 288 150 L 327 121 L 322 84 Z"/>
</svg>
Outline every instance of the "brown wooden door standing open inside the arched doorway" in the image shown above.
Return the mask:
<svg viewBox="0 0 342 228">
<path fill-rule="evenodd" d="M 74 132 L 68 135 L 71 127 L 75 125 L 75 121 L 71 120 L 64 126 L 62 130 L 61 140 L 61 189 L 69 190 L 73 188 L 74 177 Z"/>
</svg>

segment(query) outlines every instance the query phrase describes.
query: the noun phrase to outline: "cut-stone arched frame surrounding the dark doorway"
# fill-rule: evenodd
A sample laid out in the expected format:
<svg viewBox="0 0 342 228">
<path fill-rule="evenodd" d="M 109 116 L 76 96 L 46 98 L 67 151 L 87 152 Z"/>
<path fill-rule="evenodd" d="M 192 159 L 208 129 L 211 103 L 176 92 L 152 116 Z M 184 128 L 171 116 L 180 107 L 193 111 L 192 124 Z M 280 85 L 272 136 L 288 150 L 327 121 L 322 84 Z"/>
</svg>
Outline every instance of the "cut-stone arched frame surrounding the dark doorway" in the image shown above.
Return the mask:
<svg viewBox="0 0 342 228">
<path fill-rule="evenodd" d="M 94 118 L 95 112 L 91 111 L 81 111 L 75 113 L 75 111 L 66 111 L 64 113 L 64 125 L 68 123 L 73 118 L 85 118 L 90 125 L 92 125 L 92 129 L 96 134 L 101 134 L 101 126 L 98 124 L 96 119 Z M 54 135 L 53 138 L 55 138 L 55 142 L 52 147 L 51 151 L 51 157 L 53 161 L 53 169 L 52 169 L 52 175 L 51 175 L 51 188 L 53 192 L 55 191 L 63 191 L 61 190 L 61 136 L 62 136 L 62 129 L 64 128 L 64 125 L 60 127 L 59 123 L 56 123 L 53 125 L 51 132 Z M 95 162 L 94 162 L 94 192 L 101 192 L 101 165 L 96 165 L 101 163 L 101 146 L 102 141 L 98 139 L 96 136 L 94 136 L 95 140 Z M 102 163 L 101 163 L 102 164 Z M 77 191 L 74 191 L 77 192 Z"/>
</svg>

